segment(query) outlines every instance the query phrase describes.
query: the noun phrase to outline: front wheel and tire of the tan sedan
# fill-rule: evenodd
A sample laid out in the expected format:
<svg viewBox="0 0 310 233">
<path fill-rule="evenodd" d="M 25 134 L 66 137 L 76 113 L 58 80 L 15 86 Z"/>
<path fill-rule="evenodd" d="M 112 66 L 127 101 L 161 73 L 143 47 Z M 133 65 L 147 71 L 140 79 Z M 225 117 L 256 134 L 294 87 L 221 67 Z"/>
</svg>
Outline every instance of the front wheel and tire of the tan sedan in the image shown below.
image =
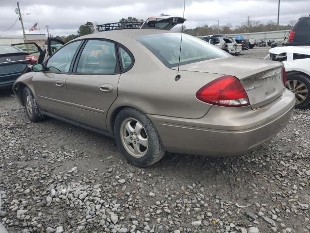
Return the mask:
<svg viewBox="0 0 310 233">
<path fill-rule="evenodd" d="M 39 107 L 35 101 L 31 90 L 25 87 L 23 90 L 23 101 L 26 110 L 26 114 L 31 122 L 37 122 L 42 119 Z"/>
</svg>

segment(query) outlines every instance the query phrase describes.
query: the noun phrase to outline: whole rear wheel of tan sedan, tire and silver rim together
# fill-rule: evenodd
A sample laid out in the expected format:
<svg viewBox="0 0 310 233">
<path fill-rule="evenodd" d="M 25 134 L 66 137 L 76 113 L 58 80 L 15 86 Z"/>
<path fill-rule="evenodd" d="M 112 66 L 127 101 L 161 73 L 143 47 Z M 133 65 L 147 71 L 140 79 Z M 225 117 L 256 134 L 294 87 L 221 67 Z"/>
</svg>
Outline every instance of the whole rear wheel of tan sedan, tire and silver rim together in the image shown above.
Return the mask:
<svg viewBox="0 0 310 233">
<path fill-rule="evenodd" d="M 166 152 L 150 118 L 134 108 L 124 108 L 117 115 L 114 135 L 122 154 L 135 166 L 151 166 Z"/>
</svg>

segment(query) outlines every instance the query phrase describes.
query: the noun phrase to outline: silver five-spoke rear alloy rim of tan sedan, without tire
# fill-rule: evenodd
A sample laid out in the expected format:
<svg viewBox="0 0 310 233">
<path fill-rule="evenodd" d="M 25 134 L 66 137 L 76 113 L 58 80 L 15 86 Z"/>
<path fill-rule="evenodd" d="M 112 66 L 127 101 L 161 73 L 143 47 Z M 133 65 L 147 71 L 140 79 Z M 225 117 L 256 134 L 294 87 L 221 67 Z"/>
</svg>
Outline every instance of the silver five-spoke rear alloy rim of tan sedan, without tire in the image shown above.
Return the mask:
<svg viewBox="0 0 310 233">
<path fill-rule="evenodd" d="M 142 124 L 135 118 L 127 118 L 121 125 L 121 139 L 124 148 L 135 158 L 143 157 L 149 140 Z"/>
</svg>

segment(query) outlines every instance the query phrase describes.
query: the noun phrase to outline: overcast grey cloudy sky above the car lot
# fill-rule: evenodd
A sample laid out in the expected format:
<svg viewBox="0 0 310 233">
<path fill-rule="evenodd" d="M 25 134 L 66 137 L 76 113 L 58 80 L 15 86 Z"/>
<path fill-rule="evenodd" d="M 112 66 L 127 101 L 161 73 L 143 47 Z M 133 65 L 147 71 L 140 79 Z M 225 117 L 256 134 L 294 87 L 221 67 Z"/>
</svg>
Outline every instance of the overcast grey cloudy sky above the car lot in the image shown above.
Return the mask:
<svg viewBox="0 0 310 233">
<path fill-rule="evenodd" d="M 161 13 L 182 16 L 184 0 L 19 0 L 19 4 L 22 13 L 31 13 L 23 16 L 26 33 L 38 21 L 41 33 L 47 33 L 45 25 L 49 25 L 50 33 L 56 36 L 76 34 L 78 26 L 87 21 L 103 24 L 129 16 L 145 20 Z M 0 0 L 0 36 L 22 35 L 15 8 L 16 0 Z M 263 23 L 276 22 L 277 14 L 278 0 L 186 0 L 185 25 L 212 25 L 219 19 L 221 25 L 235 26 L 248 16 Z M 280 24 L 309 14 L 310 0 L 281 0 Z"/>
</svg>

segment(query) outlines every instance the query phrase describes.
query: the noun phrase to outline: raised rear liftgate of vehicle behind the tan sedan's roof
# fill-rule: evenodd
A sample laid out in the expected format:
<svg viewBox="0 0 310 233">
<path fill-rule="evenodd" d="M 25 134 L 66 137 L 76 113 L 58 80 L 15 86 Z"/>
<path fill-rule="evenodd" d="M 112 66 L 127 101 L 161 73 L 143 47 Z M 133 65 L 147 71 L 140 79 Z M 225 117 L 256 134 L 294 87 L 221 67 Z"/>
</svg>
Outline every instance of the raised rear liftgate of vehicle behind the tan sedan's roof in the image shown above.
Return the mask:
<svg viewBox="0 0 310 233">
<path fill-rule="evenodd" d="M 160 16 L 152 16 L 148 17 L 145 22 L 142 24 L 140 29 L 148 28 L 148 29 L 163 29 L 163 30 L 171 30 L 175 25 L 182 24 L 186 21 L 183 17 L 170 16 L 161 14 Z"/>
</svg>

